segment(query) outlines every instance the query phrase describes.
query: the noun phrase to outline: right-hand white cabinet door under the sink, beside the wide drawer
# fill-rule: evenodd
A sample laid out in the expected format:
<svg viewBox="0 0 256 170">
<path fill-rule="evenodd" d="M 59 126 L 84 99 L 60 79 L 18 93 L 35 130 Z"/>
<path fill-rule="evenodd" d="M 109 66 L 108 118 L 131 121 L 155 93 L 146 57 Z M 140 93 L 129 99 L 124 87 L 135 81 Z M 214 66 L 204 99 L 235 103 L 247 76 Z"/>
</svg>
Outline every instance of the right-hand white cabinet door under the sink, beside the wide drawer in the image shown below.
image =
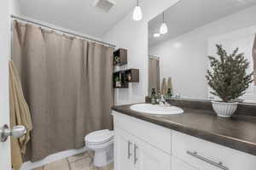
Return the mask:
<svg viewBox="0 0 256 170">
<path fill-rule="evenodd" d="M 132 163 L 136 170 L 171 170 L 171 156 L 140 139 L 133 145 Z"/>
</svg>

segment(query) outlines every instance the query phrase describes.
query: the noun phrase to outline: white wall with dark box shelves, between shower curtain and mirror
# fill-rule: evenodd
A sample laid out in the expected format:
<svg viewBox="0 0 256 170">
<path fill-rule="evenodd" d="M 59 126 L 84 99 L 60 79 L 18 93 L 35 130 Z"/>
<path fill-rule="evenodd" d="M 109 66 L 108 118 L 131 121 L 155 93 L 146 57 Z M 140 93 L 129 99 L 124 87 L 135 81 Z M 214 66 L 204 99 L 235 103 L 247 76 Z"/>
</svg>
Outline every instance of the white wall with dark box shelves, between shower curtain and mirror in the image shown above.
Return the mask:
<svg viewBox="0 0 256 170">
<path fill-rule="evenodd" d="M 103 40 L 113 42 L 118 48 L 128 49 L 128 65 L 123 68 L 140 69 L 140 82 L 130 83 L 129 89 L 115 90 L 115 104 L 143 102 L 148 94 L 148 20 L 153 19 L 178 0 L 142 0 L 143 20 L 133 21 L 132 11 L 108 33 Z"/>
</svg>

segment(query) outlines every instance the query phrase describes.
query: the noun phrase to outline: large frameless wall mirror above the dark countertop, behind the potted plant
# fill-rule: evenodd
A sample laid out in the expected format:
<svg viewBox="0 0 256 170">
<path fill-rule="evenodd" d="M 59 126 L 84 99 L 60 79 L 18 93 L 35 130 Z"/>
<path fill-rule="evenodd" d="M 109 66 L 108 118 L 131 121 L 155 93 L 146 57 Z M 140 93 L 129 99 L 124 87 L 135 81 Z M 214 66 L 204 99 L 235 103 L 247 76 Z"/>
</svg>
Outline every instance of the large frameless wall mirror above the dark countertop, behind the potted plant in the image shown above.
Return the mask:
<svg viewBox="0 0 256 170">
<path fill-rule="evenodd" d="M 171 88 L 172 97 L 218 99 L 210 94 L 206 78 L 210 69 L 207 56 L 217 57 L 216 44 L 228 54 L 239 48 L 249 61 L 247 72 L 255 72 L 255 16 L 254 0 L 180 0 L 150 20 L 148 95 L 152 88 L 164 94 Z M 256 103 L 255 85 L 250 83 L 239 99 Z"/>
</svg>

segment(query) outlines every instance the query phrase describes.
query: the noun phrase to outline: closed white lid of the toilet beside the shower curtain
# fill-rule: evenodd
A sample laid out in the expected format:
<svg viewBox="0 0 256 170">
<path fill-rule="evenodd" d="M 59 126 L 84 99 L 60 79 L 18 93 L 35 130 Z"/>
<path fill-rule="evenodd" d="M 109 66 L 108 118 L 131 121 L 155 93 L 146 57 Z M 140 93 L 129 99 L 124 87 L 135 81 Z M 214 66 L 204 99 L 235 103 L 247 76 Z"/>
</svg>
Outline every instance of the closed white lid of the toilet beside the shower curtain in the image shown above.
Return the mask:
<svg viewBox="0 0 256 170">
<path fill-rule="evenodd" d="M 108 129 L 98 130 L 85 136 L 85 141 L 89 143 L 103 143 L 113 139 L 113 131 Z"/>
</svg>

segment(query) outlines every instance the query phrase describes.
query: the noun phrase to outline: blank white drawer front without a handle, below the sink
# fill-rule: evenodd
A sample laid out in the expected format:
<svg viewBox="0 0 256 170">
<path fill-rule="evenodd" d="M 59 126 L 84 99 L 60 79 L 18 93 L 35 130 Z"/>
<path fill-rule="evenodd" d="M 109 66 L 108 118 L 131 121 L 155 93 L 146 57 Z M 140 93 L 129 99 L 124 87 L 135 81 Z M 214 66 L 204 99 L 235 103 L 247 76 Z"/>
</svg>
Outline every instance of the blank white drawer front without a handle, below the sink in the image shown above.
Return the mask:
<svg viewBox="0 0 256 170">
<path fill-rule="evenodd" d="M 142 139 L 148 144 L 154 145 L 157 149 L 171 154 L 171 129 L 126 116 L 116 111 L 113 111 L 112 115 L 114 128 L 122 128 L 138 139 Z"/>
</svg>

